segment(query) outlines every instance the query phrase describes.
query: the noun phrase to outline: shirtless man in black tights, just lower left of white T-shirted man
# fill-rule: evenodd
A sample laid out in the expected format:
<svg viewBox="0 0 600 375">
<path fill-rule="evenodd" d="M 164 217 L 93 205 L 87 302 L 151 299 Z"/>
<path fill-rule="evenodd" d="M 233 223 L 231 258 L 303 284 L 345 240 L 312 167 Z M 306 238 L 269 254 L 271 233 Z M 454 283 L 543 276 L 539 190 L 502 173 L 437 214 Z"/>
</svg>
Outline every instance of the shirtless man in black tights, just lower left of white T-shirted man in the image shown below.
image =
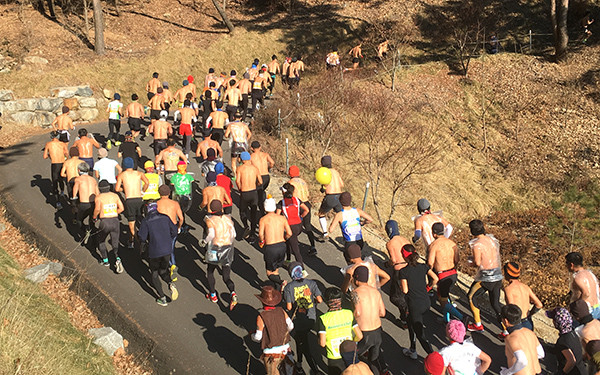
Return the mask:
<svg viewBox="0 0 600 375">
<path fill-rule="evenodd" d="M 73 196 L 71 199 L 75 201 L 79 197 L 77 205 L 77 223 L 83 236 L 83 244 L 86 245 L 92 233 L 92 214 L 94 213 L 94 199 L 100 194 L 96 179 L 89 175 L 90 167 L 86 163 L 81 163 L 77 167 L 79 177 L 75 178 L 73 184 Z M 88 218 L 88 224 L 83 221 Z"/>
</svg>

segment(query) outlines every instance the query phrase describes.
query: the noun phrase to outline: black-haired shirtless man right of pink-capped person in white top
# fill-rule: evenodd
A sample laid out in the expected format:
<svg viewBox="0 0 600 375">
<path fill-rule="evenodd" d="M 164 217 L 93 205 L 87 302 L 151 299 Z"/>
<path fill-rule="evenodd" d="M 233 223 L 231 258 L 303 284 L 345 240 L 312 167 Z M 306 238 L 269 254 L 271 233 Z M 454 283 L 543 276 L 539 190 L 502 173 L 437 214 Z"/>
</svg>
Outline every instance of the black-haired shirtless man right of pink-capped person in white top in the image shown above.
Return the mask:
<svg viewBox="0 0 600 375">
<path fill-rule="evenodd" d="M 542 373 L 540 359 L 544 348 L 530 329 L 520 325 L 521 308 L 508 304 L 502 308 L 502 323 L 510 334 L 504 340 L 506 362 L 509 368 L 500 367 L 500 375 L 536 375 Z"/>
</svg>

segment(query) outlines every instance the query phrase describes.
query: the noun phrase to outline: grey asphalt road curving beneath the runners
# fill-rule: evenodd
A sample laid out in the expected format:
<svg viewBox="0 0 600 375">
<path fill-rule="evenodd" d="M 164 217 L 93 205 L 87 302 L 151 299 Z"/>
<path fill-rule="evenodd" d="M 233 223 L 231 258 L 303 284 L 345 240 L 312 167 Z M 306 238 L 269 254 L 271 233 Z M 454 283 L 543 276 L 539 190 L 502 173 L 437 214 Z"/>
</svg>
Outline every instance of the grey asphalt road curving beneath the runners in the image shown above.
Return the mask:
<svg viewBox="0 0 600 375">
<path fill-rule="evenodd" d="M 90 125 L 87 128 L 99 140 L 103 139 L 100 134 L 107 133 L 106 125 L 103 124 Z M 180 280 L 177 283 L 180 297 L 168 307 L 158 306 L 155 303 L 156 295 L 151 287 L 146 262 L 140 259 L 137 251 L 123 247 L 123 239 L 126 238 L 125 222 L 122 222 L 121 226 L 120 249 L 125 273 L 118 275 L 112 269 L 98 265 L 98 255 L 91 245 L 78 246 L 73 237 L 75 228 L 68 209 L 55 213 L 48 200 L 50 165 L 49 161 L 42 159 L 41 152 L 47 140 L 47 135 L 36 136 L 0 154 L 2 197 L 10 207 L 18 210 L 18 215 L 38 228 L 40 235 L 46 236 L 55 246 L 62 249 L 64 256 L 104 291 L 118 309 L 151 337 L 159 348 L 168 351 L 170 356 L 160 359 L 164 361 L 163 365 L 159 366 L 163 370 L 158 372 L 246 374 L 249 366 L 250 374 L 264 374 L 264 368 L 258 360 L 259 346 L 248 336 L 248 332 L 255 328 L 256 309 L 260 307 L 253 294 L 258 293 L 263 280 L 266 279 L 261 250 L 245 241 L 237 241 L 232 279 L 236 284 L 240 303 L 232 312 L 229 311 L 227 289 L 218 275 L 217 291 L 221 293 L 221 301 L 226 302 L 209 302 L 204 297 L 207 291 L 206 266 L 200 261 L 201 249 L 198 246 L 201 235 L 200 216 L 197 212 L 191 213 L 188 222 L 194 229 L 180 236 L 175 249 L 180 267 Z M 140 143 L 144 155 L 151 156 L 149 141 Z M 110 151 L 109 157 L 116 159 L 115 148 Z M 192 161 L 189 169 L 199 172 L 196 161 Z M 194 203 L 194 207 L 198 206 L 197 203 Z M 233 216 L 238 232 L 241 233 L 237 209 L 234 209 Z M 301 235 L 300 241 L 303 243 L 301 251 L 309 277 L 318 281 L 321 290 L 330 285 L 340 285 L 342 275 L 339 267 L 345 263 L 339 248 L 332 242 L 318 244 L 319 257 L 309 257 L 306 254 L 308 246 L 304 234 Z M 371 250 L 367 247 L 367 251 Z M 282 272 L 282 275 L 289 279 L 287 273 Z M 394 374 L 422 374 L 422 356 L 425 353 L 418 345 L 418 361 L 411 361 L 402 355 L 402 347 L 408 344 L 408 332 L 393 323 L 398 311 L 389 303 L 387 288 L 384 288 L 384 293 L 388 308 L 388 315 L 383 323 L 385 359 Z M 465 296 L 459 300 L 463 310 L 466 306 L 465 301 Z M 326 311 L 326 306 L 319 306 L 319 310 Z M 426 316 L 427 337 L 435 348 L 447 344 L 443 325 L 438 322 L 439 316 L 433 308 Z M 101 321 L 108 320 L 106 316 L 99 318 Z M 489 316 L 485 318 L 490 321 Z M 492 331 L 497 333 L 495 328 L 492 328 Z M 489 332 L 475 334 L 474 341 L 492 356 L 494 360 L 490 373 L 497 374 L 500 366 L 506 365 L 501 343 Z M 315 335 L 311 336 L 311 342 L 312 351 L 317 355 L 320 348 Z M 326 369 L 323 359 L 320 359 L 319 363 L 322 369 Z M 308 371 L 308 368 L 306 370 Z"/>
</svg>

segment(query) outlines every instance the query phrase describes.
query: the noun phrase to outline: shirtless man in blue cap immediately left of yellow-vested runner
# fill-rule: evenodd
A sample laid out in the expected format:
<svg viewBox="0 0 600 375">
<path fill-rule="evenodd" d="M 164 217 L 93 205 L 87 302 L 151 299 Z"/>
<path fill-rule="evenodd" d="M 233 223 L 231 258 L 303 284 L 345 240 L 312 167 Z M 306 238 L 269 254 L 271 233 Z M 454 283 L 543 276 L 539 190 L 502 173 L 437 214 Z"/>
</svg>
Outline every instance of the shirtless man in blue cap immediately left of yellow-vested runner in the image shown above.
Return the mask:
<svg viewBox="0 0 600 375">
<path fill-rule="evenodd" d="M 117 185 L 115 191 L 125 193 L 125 217 L 129 225 L 129 244 L 128 247 L 133 249 L 135 239 L 135 223 L 136 220 L 142 218 L 142 191 L 148 189 L 148 179 L 144 172 L 134 169 L 135 165 L 132 158 L 123 160 L 124 171 L 117 176 Z"/>
</svg>

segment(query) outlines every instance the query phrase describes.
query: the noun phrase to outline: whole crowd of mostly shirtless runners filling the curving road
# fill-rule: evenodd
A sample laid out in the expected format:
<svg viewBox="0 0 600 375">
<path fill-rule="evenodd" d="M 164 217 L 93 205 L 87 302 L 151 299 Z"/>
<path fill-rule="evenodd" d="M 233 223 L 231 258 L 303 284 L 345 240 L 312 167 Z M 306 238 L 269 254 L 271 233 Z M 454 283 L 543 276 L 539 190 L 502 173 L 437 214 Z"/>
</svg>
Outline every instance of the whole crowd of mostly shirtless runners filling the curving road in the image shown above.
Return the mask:
<svg viewBox="0 0 600 375">
<path fill-rule="evenodd" d="M 349 54 L 357 64 L 357 59 L 362 58 L 360 45 Z M 337 52 L 334 55 L 328 56 L 327 64 L 339 63 Z M 501 375 L 540 374 L 540 360 L 545 353 L 534 333 L 532 317 L 543 307 L 542 303 L 520 281 L 521 265 L 502 262 L 499 241 L 486 231 L 481 220 L 469 223 L 473 236 L 468 243 L 470 253 L 459 254 L 458 245 L 452 240 L 453 226 L 441 212 L 433 212 L 426 199 L 420 199 L 412 238 L 402 236 L 396 221 L 386 223 L 389 259 L 380 268 L 363 251 L 362 227 L 373 218 L 352 205 L 352 196 L 345 191 L 342 175 L 330 156 L 324 156 L 321 165 L 315 166 L 319 167 L 317 184 L 324 194 L 317 212 L 313 212 L 310 203 L 310 181 L 302 178 L 295 165 L 287 171 L 288 181 L 279 187 L 282 198 L 277 201 L 267 194 L 270 169 L 275 163 L 262 145 L 252 140 L 252 129 L 246 120 L 264 107 L 264 99 L 272 95 L 276 81 L 294 88 L 303 71 L 300 57 L 286 58 L 280 65 L 272 56 L 263 65 L 255 59 L 241 76 L 234 70 L 218 74 L 210 69 L 197 85 L 190 75 L 174 93 L 154 73 L 145 87 L 147 100 L 141 102 L 137 94 L 132 94 L 125 106 L 121 96 L 114 94 L 107 108 L 108 134 L 102 142 L 85 128 L 79 128 L 71 143 L 74 126 L 70 109 L 63 107 L 63 114 L 53 123 L 52 139 L 44 149 L 44 158 L 51 161 L 55 208 L 72 212 L 74 224 L 80 228 L 77 240 L 83 244 L 92 241 L 99 263 L 112 267 L 116 273 L 124 271 L 119 257 L 123 251 L 123 214 L 128 234 L 122 242 L 129 251 L 139 250 L 147 261 L 158 296 L 156 302 L 161 306 L 178 298 L 174 247 L 178 234 L 188 228 L 189 213 L 203 216 L 199 244 L 207 267 L 208 301 L 219 301 L 214 272 L 220 269 L 230 293 L 229 308 L 235 308 L 238 296 L 231 279 L 235 241 L 255 245 L 264 256 L 265 277 L 261 293 L 256 295 L 263 309 L 252 339 L 261 343 L 267 374 L 303 374 L 304 360 L 311 373 L 322 373 L 308 344 L 313 330 L 325 348 L 327 374 L 391 374 L 382 354 L 381 318 L 386 309 L 381 287 L 388 283 L 390 301 L 399 312 L 396 323 L 408 331 L 410 345 L 402 352 L 417 360 L 418 341 L 428 353 L 425 373 L 483 374 L 498 360 L 508 364 L 501 369 Z M 122 136 L 124 118 L 129 130 Z M 142 150 L 136 142 L 138 137 L 153 137 L 153 155 Z M 229 147 L 223 147 L 224 140 L 228 140 Z M 108 150 L 113 147 L 118 147 L 120 162 L 108 157 Z M 224 149 L 229 150 L 231 159 Z M 200 160 L 197 174 L 188 171 L 194 156 Z M 199 207 L 192 205 L 195 185 L 202 187 Z M 231 218 L 234 202 L 239 207 L 243 233 L 236 233 Z M 313 216 L 318 217 L 318 236 L 312 227 Z M 310 246 L 307 255 L 317 257 L 316 242 L 329 241 L 330 233 L 337 228 L 344 240 L 346 264 L 337 265 L 342 267 L 344 281 L 320 290 L 314 280 L 307 278 L 298 237 L 306 233 Z M 112 255 L 106 244 L 109 237 Z M 415 249 L 419 242 L 425 249 L 424 256 Z M 461 313 L 451 299 L 460 257 L 468 257 L 469 264 L 477 268 L 467 293 L 470 315 Z M 569 253 L 565 262 L 572 273 L 570 305 L 546 313 L 560 334 L 554 346 L 556 373 L 598 373 L 598 281 L 584 268 L 581 254 Z M 281 269 L 289 277 L 280 274 Z M 161 279 L 169 289 L 169 299 Z M 504 306 L 500 303 L 502 291 Z M 478 297 L 485 293 L 506 358 L 491 358 L 485 347 L 478 348 L 466 335 L 467 331 L 485 330 L 478 305 Z M 424 315 L 432 309 L 434 298 L 438 306 L 433 308 L 442 316 L 449 343 L 437 350 L 428 342 L 424 325 Z M 323 302 L 327 312 L 318 315 L 316 306 Z M 296 343 L 293 360 L 291 338 Z"/>
</svg>

